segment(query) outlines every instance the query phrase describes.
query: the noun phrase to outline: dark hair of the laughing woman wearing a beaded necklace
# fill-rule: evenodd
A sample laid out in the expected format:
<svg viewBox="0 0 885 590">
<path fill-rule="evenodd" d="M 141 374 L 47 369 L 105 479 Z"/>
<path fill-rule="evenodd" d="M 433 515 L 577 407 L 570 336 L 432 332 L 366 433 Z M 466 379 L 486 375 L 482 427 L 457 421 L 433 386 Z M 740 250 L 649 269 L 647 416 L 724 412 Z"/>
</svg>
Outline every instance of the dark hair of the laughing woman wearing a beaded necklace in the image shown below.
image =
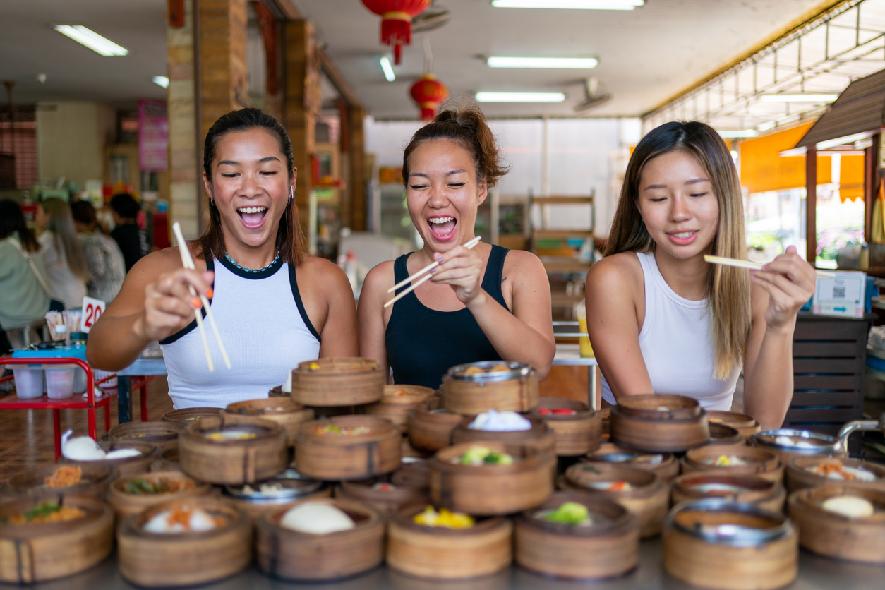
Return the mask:
<svg viewBox="0 0 885 590">
<path fill-rule="evenodd" d="M 206 178 L 212 184 L 212 162 L 215 161 L 215 151 L 219 140 L 225 135 L 235 131 L 247 131 L 249 129 L 265 129 L 280 142 L 280 151 L 286 157 L 286 169 L 289 171 L 289 180 L 295 173 L 295 156 L 292 153 L 292 141 L 286 133 L 286 127 L 271 115 L 259 109 L 240 109 L 230 111 L 222 115 L 209 128 L 206 134 L 206 142 L 203 149 L 203 171 Z M 224 244 L 224 234 L 221 231 L 221 215 L 218 207 L 212 203 L 209 206 L 209 226 L 200 237 L 200 248 L 197 255 L 204 256 L 211 253 L 212 257 L 220 258 L 227 254 Z M 304 232 L 298 225 L 298 212 L 295 209 L 295 200 L 289 199 L 286 209 L 280 219 L 280 227 L 277 230 L 276 248 L 280 252 L 281 259 L 293 266 L 301 264 L 304 253 L 307 251 L 307 240 Z"/>
</svg>

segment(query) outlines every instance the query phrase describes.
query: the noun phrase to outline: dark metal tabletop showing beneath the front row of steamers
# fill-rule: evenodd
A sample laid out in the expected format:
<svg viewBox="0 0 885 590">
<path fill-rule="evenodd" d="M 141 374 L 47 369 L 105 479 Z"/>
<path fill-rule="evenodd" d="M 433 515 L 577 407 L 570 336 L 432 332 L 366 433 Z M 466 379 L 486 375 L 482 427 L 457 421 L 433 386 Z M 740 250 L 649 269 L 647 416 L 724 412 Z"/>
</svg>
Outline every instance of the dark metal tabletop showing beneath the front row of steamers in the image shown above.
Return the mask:
<svg viewBox="0 0 885 590">
<path fill-rule="evenodd" d="M 196 566 L 196 564 L 195 564 Z M 130 589 L 117 569 L 116 556 L 89 571 L 69 578 L 31 586 L 35 590 L 117 590 Z M 802 551 L 799 556 L 799 577 L 787 586 L 789 590 L 881 590 L 885 587 L 885 567 L 860 563 L 837 562 Z M 358 578 L 327 584 L 297 584 L 266 577 L 255 566 L 247 571 L 206 586 L 206 590 L 281 590 L 283 588 L 315 590 L 697 590 L 666 575 L 661 567 L 660 540 L 644 541 L 640 546 L 640 564 L 632 573 L 618 579 L 597 582 L 544 579 L 528 571 L 512 567 L 489 578 L 467 582 L 434 582 L 407 578 L 386 567 L 370 571 Z"/>
</svg>

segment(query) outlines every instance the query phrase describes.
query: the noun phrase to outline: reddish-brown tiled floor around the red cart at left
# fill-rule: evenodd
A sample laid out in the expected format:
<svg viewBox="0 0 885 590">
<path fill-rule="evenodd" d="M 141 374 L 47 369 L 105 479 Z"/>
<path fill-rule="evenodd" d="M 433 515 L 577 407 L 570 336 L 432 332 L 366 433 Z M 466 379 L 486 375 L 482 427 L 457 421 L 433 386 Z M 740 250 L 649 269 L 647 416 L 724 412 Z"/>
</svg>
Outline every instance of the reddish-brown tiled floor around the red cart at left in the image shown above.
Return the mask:
<svg viewBox="0 0 885 590">
<path fill-rule="evenodd" d="M 165 378 L 148 384 L 150 419 L 158 420 L 172 410 Z M 3 392 L 5 394 L 5 392 Z M 139 394 L 133 395 L 135 418 L 141 419 Z M 99 436 L 103 434 L 104 410 L 96 412 Z M 111 400 L 111 425 L 117 424 L 117 400 Z M 61 432 L 73 428 L 74 434 L 86 434 L 86 410 L 62 410 Z M 0 483 L 19 471 L 52 464 L 55 460 L 52 441 L 52 410 L 0 410 Z"/>
</svg>

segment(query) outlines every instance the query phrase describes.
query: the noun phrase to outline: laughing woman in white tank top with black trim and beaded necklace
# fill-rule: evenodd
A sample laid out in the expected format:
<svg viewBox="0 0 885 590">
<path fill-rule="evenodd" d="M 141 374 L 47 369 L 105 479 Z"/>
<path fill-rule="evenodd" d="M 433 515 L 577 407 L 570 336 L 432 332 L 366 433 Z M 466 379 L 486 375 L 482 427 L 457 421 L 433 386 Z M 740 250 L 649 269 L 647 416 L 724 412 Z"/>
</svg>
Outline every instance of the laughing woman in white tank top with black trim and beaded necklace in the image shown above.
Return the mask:
<svg viewBox="0 0 885 590">
<path fill-rule="evenodd" d="M 231 111 L 206 134 L 204 184 L 209 226 L 188 247 L 143 257 L 89 334 L 87 358 L 99 369 L 132 364 L 160 341 L 176 409 L 223 408 L 267 397 L 290 369 L 322 356 L 357 356 L 356 305 L 335 264 L 305 252 L 294 200 L 292 143 L 280 122 L 258 109 Z M 231 369 L 206 366 L 194 287 L 212 302 Z M 209 339 L 215 358 L 218 344 Z"/>
</svg>

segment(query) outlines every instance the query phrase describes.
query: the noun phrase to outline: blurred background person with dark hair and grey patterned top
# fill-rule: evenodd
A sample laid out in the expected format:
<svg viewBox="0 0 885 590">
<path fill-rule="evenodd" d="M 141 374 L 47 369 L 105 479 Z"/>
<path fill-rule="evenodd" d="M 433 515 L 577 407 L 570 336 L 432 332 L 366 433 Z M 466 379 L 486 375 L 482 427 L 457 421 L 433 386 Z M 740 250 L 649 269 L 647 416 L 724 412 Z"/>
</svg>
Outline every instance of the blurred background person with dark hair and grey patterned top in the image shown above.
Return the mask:
<svg viewBox="0 0 885 590">
<path fill-rule="evenodd" d="M 126 278 L 126 263 L 117 242 L 104 234 L 98 224 L 96 210 L 89 201 L 71 204 L 73 226 L 80 237 L 83 252 L 89 263 L 89 282 L 86 294 L 90 297 L 111 303 L 119 293 Z"/>
</svg>

